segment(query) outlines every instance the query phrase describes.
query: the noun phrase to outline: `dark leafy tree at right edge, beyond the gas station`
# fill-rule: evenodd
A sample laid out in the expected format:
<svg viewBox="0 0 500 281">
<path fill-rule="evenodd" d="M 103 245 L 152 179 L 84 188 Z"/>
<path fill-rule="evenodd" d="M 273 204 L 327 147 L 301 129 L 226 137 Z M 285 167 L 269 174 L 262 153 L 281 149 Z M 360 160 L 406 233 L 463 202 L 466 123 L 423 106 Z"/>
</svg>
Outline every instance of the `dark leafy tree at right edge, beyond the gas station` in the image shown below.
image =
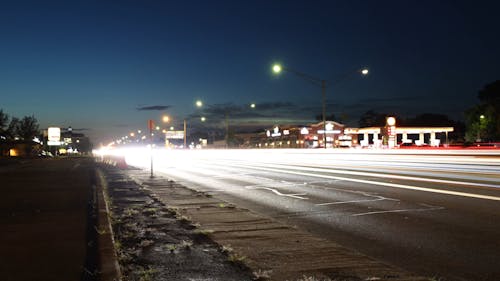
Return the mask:
<svg viewBox="0 0 500 281">
<path fill-rule="evenodd" d="M 480 103 L 465 112 L 465 139 L 500 140 L 500 80 L 487 84 L 478 93 Z"/>
</svg>

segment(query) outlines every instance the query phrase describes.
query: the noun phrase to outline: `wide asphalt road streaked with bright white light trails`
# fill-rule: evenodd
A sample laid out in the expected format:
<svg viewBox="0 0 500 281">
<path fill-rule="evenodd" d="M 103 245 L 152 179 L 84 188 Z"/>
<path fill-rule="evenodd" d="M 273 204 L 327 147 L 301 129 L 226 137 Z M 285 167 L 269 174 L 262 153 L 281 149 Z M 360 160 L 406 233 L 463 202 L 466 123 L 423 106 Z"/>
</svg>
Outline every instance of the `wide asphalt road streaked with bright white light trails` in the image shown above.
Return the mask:
<svg viewBox="0 0 500 281">
<path fill-rule="evenodd" d="M 498 152 L 156 151 L 154 169 L 419 275 L 500 280 Z"/>
</svg>

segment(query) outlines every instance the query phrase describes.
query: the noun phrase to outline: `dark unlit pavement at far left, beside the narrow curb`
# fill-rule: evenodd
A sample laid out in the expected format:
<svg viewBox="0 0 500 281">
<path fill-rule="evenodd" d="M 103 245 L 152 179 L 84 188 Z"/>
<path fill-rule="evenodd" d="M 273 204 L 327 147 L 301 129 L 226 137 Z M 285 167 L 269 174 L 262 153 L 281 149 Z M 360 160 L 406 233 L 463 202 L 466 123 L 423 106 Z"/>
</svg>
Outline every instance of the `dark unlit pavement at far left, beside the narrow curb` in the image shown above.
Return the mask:
<svg viewBox="0 0 500 281">
<path fill-rule="evenodd" d="M 0 279 L 83 280 L 92 159 L 2 159 Z"/>
</svg>

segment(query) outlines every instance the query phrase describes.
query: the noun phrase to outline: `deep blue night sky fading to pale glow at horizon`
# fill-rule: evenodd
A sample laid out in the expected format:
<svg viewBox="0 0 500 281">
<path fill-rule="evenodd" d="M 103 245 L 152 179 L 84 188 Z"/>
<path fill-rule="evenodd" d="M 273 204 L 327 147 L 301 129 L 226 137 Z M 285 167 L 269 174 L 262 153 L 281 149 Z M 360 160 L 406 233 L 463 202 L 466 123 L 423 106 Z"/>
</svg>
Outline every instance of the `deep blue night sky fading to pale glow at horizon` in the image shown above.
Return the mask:
<svg viewBox="0 0 500 281">
<path fill-rule="evenodd" d="M 328 80 L 327 113 L 350 126 L 370 109 L 460 120 L 500 79 L 497 2 L 2 1 L 0 108 L 95 143 L 164 113 L 313 122 L 321 88 L 273 74 L 280 62 Z"/>
</svg>

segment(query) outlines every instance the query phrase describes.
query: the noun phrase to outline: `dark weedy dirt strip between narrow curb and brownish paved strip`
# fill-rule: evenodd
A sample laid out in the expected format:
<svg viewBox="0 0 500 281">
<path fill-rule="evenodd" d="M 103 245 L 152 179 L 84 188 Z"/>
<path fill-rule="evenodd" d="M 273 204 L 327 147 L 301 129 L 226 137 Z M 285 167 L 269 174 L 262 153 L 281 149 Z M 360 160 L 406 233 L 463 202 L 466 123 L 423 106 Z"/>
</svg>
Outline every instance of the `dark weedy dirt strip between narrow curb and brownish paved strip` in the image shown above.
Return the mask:
<svg viewBox="0 0 500 281">
<path fill-rule="evenodd" d="M 123 171 L 104 171 L 125 280 L 254 280 L 241 260 L 206 231 L 168 209 Z"/>
</svg>

